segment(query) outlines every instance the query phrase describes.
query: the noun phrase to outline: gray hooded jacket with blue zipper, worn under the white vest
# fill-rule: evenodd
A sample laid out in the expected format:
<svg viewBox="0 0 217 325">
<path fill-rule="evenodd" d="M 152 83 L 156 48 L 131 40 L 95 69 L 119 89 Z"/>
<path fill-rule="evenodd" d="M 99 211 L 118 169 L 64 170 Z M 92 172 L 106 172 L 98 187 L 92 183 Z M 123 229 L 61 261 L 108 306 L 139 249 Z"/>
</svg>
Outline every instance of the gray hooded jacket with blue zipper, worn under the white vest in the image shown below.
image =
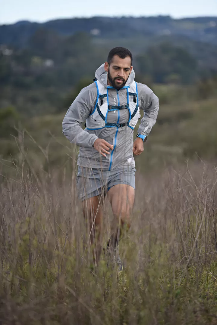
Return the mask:
<svg viewBox="0 0 217 325">
<path fill-rule="evenodd" d="M 95 77 L 97 80 L 107 86 L 107 72 L 104 70 L 102 64 L 96 71 Z M 126 85 L 130 85 L 134 80 L 135 74 L 132 70 Z M 153 91 L 141 83 L 137 83 L 139 108 L 143 110 L 144 115 L 138 132 L 142 135 L 148 135 L 156 123 L 157 113 L 159 109 L 158 98 Z M 127 90 L 126 88 L 118 91 L 118 99 L 120 105 L 127 104 Z M 109 105 L 117 105 L 117 90 L 108 90 Z M 71 143 L 75 143 L 80 147 L 78 155 L 78 165 L 83 167 L 100 168 L 102 170 L 114 169 L 121 167 L 123 169 L 135 167 L 133 159 L 133 129 L 127 125 L 117 129 L 102 128 L 99 130 L 83 130 L 82 123 L 93 112 L 97 100 L 96 84 L 83 88 L 79 95 L 75 98 L 74 102 L 68 109 L 63 122 L 62 129 L 64 135 Z M 117 123 L 117 111 L 108 112 L 107 122 Z M 129 120 L 129 111 L 126 108 L 120 110 L 119 123 L 126 123 Z M 93 144 L 96 139 L 101 138 L 114 145 L 114 150 L 110 155 L 103 157 Z"/>
</svg>

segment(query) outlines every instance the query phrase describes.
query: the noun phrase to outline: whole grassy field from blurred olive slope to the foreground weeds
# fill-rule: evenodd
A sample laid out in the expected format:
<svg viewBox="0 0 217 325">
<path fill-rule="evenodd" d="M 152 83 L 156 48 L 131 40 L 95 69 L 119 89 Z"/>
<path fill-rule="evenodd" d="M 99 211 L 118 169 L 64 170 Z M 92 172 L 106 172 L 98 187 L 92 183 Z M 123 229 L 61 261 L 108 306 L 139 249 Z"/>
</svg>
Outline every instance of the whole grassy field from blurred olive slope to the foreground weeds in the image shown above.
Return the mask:
<svg viewBox="0 0 217 325">
<path fill-rule="evenodd" d="M 90 272 L 63 115 L 23 120 L 1 139 L 0 323 L 217 324 L 216 98 L 161 105 L 136 158 L 120 276 L 103 255 Z M 105 201 L 102 244 L 112 219 Z"/>
</svg>

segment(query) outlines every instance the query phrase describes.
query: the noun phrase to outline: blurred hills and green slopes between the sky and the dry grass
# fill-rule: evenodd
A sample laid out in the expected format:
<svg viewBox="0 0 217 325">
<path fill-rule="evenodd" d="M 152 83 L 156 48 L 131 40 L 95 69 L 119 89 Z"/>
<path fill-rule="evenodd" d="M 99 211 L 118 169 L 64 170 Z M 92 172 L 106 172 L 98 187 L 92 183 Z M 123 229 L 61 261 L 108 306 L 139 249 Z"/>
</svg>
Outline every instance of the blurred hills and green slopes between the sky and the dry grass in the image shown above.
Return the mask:
<svg viewBox="0 0 217 325">
<path fill-rule="evenodd" d="M 114 46 L 132 51 L 136 81 L 151 87 L 160 102 L 137 166 L 158 168 L 198 157 L 214 161 L 217 18 L 169 16 L 1 25 L 0 157 L 16 157 L 14 136 L 26 129 L 42 148 L 49 144 L 54 164 L 64 163 L 64 146 L 70 147 L 61 131 L 64 114 Z M 25 141 L 34 162 L 42 151 L 30 136 Z"/>
</svg>

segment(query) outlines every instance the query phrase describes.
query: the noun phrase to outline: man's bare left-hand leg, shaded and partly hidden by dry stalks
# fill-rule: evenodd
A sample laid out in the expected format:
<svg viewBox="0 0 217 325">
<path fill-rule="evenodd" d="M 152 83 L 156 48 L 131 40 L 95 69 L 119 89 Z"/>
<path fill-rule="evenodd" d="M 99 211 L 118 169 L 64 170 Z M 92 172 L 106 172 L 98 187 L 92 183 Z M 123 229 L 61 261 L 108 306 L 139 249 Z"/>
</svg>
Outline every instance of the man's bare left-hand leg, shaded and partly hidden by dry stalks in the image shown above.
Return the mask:
<svg viewBox="0 0 217 325">
<path fill-rule="evenodd" d="M 102 205 L 100 197 L 94 196 L 82 202 L 85 220 L 88 224 L 88 235 L 90 238 L 93 262 L 98 264 L 101 254 L 102 235 Z"/>
</svg>

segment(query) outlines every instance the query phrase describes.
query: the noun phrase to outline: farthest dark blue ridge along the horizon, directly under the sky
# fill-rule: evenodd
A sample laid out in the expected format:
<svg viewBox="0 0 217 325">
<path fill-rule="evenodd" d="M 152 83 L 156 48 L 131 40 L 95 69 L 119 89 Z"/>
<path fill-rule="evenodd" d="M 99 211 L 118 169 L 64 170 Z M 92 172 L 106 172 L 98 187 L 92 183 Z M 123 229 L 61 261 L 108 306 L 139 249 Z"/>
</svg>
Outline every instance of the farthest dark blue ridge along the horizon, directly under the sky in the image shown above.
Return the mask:
<svg viewBox="0 0 217 325">
<path fill-rule="evenodd" d="M 28 47 L 29 40 L 38 29 L 66 36 L 86 32 L 103 39 L 183 36 L 194 41 L 217 45 L 217 17 L 172 19 L 170 16 L 73 18 L 56 19 L 45 23 L 19 21 L 11 25 L 0 25 L 0 44 Z"/>
</svg>

